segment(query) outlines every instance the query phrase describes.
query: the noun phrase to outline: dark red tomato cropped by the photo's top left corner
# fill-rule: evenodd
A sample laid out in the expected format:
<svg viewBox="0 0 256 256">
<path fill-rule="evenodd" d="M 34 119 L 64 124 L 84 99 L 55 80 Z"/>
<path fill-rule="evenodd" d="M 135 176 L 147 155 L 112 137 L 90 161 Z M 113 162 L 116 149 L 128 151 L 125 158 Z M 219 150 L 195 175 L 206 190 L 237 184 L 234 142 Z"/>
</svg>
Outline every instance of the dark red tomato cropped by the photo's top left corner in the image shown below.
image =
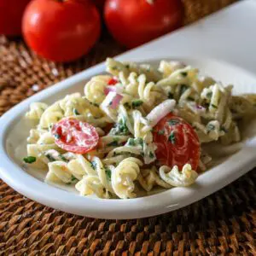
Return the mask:
<svg viewBox="0 0 256 256">
<path fill-rule="evenodd" d="M 0 0 L 0 34 L 21 34 L 21 19 L 30 0 Z"/>
</svg>

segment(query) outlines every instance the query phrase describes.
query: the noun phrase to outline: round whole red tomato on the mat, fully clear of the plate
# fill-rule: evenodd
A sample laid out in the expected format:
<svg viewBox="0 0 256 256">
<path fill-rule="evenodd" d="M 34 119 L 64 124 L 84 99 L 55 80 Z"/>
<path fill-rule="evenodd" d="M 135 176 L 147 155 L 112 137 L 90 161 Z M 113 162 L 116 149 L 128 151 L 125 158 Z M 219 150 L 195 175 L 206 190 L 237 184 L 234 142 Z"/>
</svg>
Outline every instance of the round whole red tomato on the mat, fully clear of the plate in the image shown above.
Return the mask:
<svg viewBox="0 0 256 256">
<path fill-rule="evenodd" d="M 89 0 L 34 0 L 26 8 L 22 32 L 38 55 L 73 61 L 96 43 L 101 20 Z"/>
</svg>

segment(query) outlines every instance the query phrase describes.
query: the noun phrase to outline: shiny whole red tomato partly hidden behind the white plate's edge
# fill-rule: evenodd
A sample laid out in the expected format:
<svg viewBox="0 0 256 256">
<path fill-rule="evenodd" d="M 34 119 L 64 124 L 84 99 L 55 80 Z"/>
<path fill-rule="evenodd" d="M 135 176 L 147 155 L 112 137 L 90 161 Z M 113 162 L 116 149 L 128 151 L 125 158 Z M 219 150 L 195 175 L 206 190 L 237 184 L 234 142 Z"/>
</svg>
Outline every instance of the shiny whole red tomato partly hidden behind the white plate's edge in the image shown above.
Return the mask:
<svg viewBox="0 0 256 256">
<path fill-rule="evenodd" d="M 133 48 L 181 26 L 183 7 L 180 0 L 107 0 L 104 15 L 113 38 Z"/>
</svg>

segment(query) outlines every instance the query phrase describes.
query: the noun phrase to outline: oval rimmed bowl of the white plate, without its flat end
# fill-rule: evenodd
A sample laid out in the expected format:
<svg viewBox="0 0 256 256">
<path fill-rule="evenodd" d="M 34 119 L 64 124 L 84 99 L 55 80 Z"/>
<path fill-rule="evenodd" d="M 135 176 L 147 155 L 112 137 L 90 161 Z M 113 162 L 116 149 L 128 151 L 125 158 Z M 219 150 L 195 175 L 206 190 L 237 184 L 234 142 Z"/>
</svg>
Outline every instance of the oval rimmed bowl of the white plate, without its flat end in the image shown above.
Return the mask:
<svg viewBox="0 0 256 256">
<path fill-rule="evenodd" d="M 172 60 L 172 57 L 166 59 Z M 175 58 L 177 60 L 177 58 Z M 185 63 L 201 69 L 202 73 L 211 75 L 224 84 L 235 84 L 234 93 L 256 93 L 256 78 L 241 68 L 234 67 L 222 61 L 182 59 Z M 158 63 L 158 60 L 144 61 Z M 0 175 L 3 180 L 23 195 L 49 207 L 60 209 L 94 218 L 143 218 L 189 205 L 194 201 L 212 194 L 231 183 L 242 174 L 256 166 L 256 125 L 250 125 L 242 143 L 225 148 L 235 152 L 222 159 L 211 170 L 198 177 L 196 183 L 189 188 L 174 188 L 159 194 L 130 200 L 102 200 L 80 196 L 67 187 L 55 187 L 44 183 L 45 172 L 29 170 L 27 172 L 19 158 L 17 149 L 26 154 L 25 141 L 29 127 L 25 125 L 22 116 L 32 102 L 55 102 L 61 97 L 83 91 L 86 80 L 104 72 L 104 65 L 92 67 L 55 86 L 39 92 L 5 113 L 0 119 Z M 253 133 L 255 130 L 255 133 Z M 19 149 L 20 148 L 20 149 Z M 218 150 L 217 150 L 218 151 Z"/>
</svg>

